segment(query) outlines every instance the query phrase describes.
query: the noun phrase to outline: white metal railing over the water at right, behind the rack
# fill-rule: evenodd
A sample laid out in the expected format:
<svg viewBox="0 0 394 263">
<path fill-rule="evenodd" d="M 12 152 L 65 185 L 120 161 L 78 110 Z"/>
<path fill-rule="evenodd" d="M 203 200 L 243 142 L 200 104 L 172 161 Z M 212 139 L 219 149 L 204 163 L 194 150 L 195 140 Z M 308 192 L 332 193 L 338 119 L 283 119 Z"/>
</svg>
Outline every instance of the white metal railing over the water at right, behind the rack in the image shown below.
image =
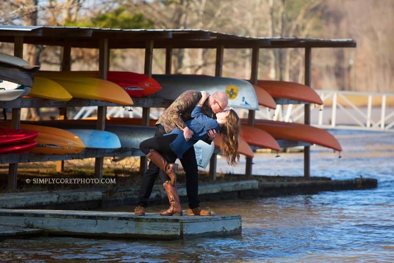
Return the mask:
<svg viewBox="0 0 394 263">
<path fill-rule="evenodd" d="M 316 90 L 323 105 L 311 104 L 311 125 L 332 129 L 368 129 L 394 132 L 394 93 Z M 247 113 L 240 111 L 241 116 Z M 303 122 L 304 105 L 261 108 L 256 119 Z"/>
</svg>

